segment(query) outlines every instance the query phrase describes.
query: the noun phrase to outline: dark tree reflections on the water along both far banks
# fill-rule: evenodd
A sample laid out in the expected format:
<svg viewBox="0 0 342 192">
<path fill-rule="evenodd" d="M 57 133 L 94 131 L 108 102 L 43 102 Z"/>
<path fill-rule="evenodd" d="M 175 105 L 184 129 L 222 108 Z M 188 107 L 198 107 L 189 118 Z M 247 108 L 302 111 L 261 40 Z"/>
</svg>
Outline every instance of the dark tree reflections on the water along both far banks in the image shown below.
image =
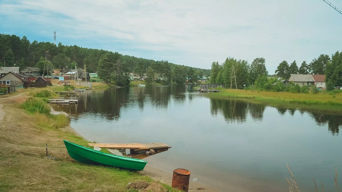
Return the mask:
<svg viewBox="0 0 342 192">
<path fill-rule="evenodd" d="M 183 105 L 184 102 L 193 102 L 196 98 L 203 97 L 203 94 L 192 92 L 190 86 L 151 86 L 151 87 L 130 87 L 111 88 L 102 90 L 89 90 L 80 93 L 78 105 L 53 106 L 55 110 L 71 112 L 75 119 L 83 113 L 101 115 L 108 120 L 120 119 L 120 111 L 123 108 L 134 108 L 143 112 L 145 105 L 167 110 L 170 105 Z M 198 104 L 190 104 L 197 106 Z M 222 115 L 227 123 L 244 123 L 250 116 L 253 121 L 263 121 L 267 105 L 254 104 L 241 100 L 210 99 L 210 114 L 212 116 Z M 328 130 L 334 135 L 339 134 L 342 126 L 342 116 L 326 114 L 322 112 L 298 110 L 295 108 L 276 108 L 278 114 L 294 116 L 297 113 L 307 113 L 319 126 L 328 125 Z"/>
</svg>

